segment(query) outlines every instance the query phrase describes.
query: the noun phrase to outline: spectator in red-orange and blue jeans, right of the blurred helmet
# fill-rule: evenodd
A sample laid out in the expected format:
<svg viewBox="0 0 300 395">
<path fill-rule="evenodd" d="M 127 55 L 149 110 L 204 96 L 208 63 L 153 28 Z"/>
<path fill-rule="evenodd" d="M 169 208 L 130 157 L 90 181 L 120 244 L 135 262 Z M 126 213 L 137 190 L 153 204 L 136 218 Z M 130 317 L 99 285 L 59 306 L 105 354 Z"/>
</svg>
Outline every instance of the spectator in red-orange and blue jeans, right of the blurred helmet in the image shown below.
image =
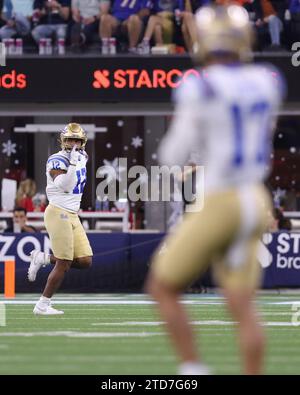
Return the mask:
<svg viewBox="0 0 300 395">
<path fill-rule="evenodd" d="M 261 34 L 268 29 L 271 46 L 268 49 L 282 50 L 280 34 L 283 30 L 283 17 L 285 1 L 250 0 L 244 5 L 247 9 L 257 33 Z"/>
</svg>

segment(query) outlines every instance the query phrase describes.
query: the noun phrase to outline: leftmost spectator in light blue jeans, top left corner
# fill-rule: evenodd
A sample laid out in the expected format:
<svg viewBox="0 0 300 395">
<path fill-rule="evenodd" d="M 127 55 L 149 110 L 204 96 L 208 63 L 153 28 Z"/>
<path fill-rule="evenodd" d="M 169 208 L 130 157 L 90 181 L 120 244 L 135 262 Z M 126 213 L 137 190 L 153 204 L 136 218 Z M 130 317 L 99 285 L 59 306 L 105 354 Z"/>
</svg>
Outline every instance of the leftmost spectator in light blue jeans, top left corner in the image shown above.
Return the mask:
<svg viewBox="0 0 300 395">
<path fill-rule="evenodd" d="M 0 29 L 0 39 L 27 36 L 30 32 L 30 16 L 33 0 L 5 0 L 6 23 Z"/>
</svg>

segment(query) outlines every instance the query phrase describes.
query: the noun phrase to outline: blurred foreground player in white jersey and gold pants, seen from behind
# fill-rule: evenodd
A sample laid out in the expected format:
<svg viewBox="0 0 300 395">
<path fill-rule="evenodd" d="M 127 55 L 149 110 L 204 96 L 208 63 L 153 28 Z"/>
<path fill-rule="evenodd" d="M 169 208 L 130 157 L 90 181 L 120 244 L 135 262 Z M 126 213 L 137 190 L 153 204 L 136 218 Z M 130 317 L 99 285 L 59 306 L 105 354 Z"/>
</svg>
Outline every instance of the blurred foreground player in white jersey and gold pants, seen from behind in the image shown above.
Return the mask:
<svg viewBox="0 0 300 395">
<path fill-rule="evenodd" d="M 184 165 L 199 152 L 205 172 L 202 210 L 185 214 L 146 282 L 166 321 L 180 374 L 209 374 L 196 351 L 180 294 L 212 265 L 233 320 L 238 322 L 246 374 L 263 368 L 264 333 L 253 303 L 260 285 L 256 259 L 267 222 L 268 173 L 274 114 L 282 100 L 278 73 L 247 63 L 253 33 L 245 9 L 203 7 L 196 15 L 200 78 L 176 92 L 173 121 L 162 141 L 162 164 Z"/>
</svg>

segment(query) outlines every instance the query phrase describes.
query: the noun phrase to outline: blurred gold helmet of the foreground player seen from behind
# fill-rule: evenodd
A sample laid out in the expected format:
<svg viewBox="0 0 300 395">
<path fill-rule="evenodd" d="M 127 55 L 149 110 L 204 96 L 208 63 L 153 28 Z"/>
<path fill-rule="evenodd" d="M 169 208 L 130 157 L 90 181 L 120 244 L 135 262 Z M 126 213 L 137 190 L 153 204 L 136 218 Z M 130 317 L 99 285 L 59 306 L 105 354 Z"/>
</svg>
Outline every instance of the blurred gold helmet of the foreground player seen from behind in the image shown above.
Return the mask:
<svg viewBox="0 0 300 395">
<path fill-rule="evenodd" d="M 196 28 L 194 52 L 197 63 L 224 55 L 235 55 L 242 62 L 251 60 L 254 32 L 243 7 L 202 7 L 196 13 Z"/>
</svg>

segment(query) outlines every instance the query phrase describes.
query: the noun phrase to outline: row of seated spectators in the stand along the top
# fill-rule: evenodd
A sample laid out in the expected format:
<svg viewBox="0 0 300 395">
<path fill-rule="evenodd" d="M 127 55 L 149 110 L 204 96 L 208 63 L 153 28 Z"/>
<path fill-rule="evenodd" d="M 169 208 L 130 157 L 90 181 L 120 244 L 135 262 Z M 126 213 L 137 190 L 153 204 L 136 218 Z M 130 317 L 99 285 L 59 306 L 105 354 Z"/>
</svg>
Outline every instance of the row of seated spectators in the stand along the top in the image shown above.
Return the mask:
<svg viewBox="0 0 300 395">
<path fill-rule="evenodd" d="M 192 52 L 195 11 L 213 2 L 245 7 L 257 50 L 287 50 L 300 39 L 300 0 L 0 0 L 0 40 L 23 38 L 33 48 L 61 40 L 73 51 L 94 44 L 104 54 Z"/>
</svg>

